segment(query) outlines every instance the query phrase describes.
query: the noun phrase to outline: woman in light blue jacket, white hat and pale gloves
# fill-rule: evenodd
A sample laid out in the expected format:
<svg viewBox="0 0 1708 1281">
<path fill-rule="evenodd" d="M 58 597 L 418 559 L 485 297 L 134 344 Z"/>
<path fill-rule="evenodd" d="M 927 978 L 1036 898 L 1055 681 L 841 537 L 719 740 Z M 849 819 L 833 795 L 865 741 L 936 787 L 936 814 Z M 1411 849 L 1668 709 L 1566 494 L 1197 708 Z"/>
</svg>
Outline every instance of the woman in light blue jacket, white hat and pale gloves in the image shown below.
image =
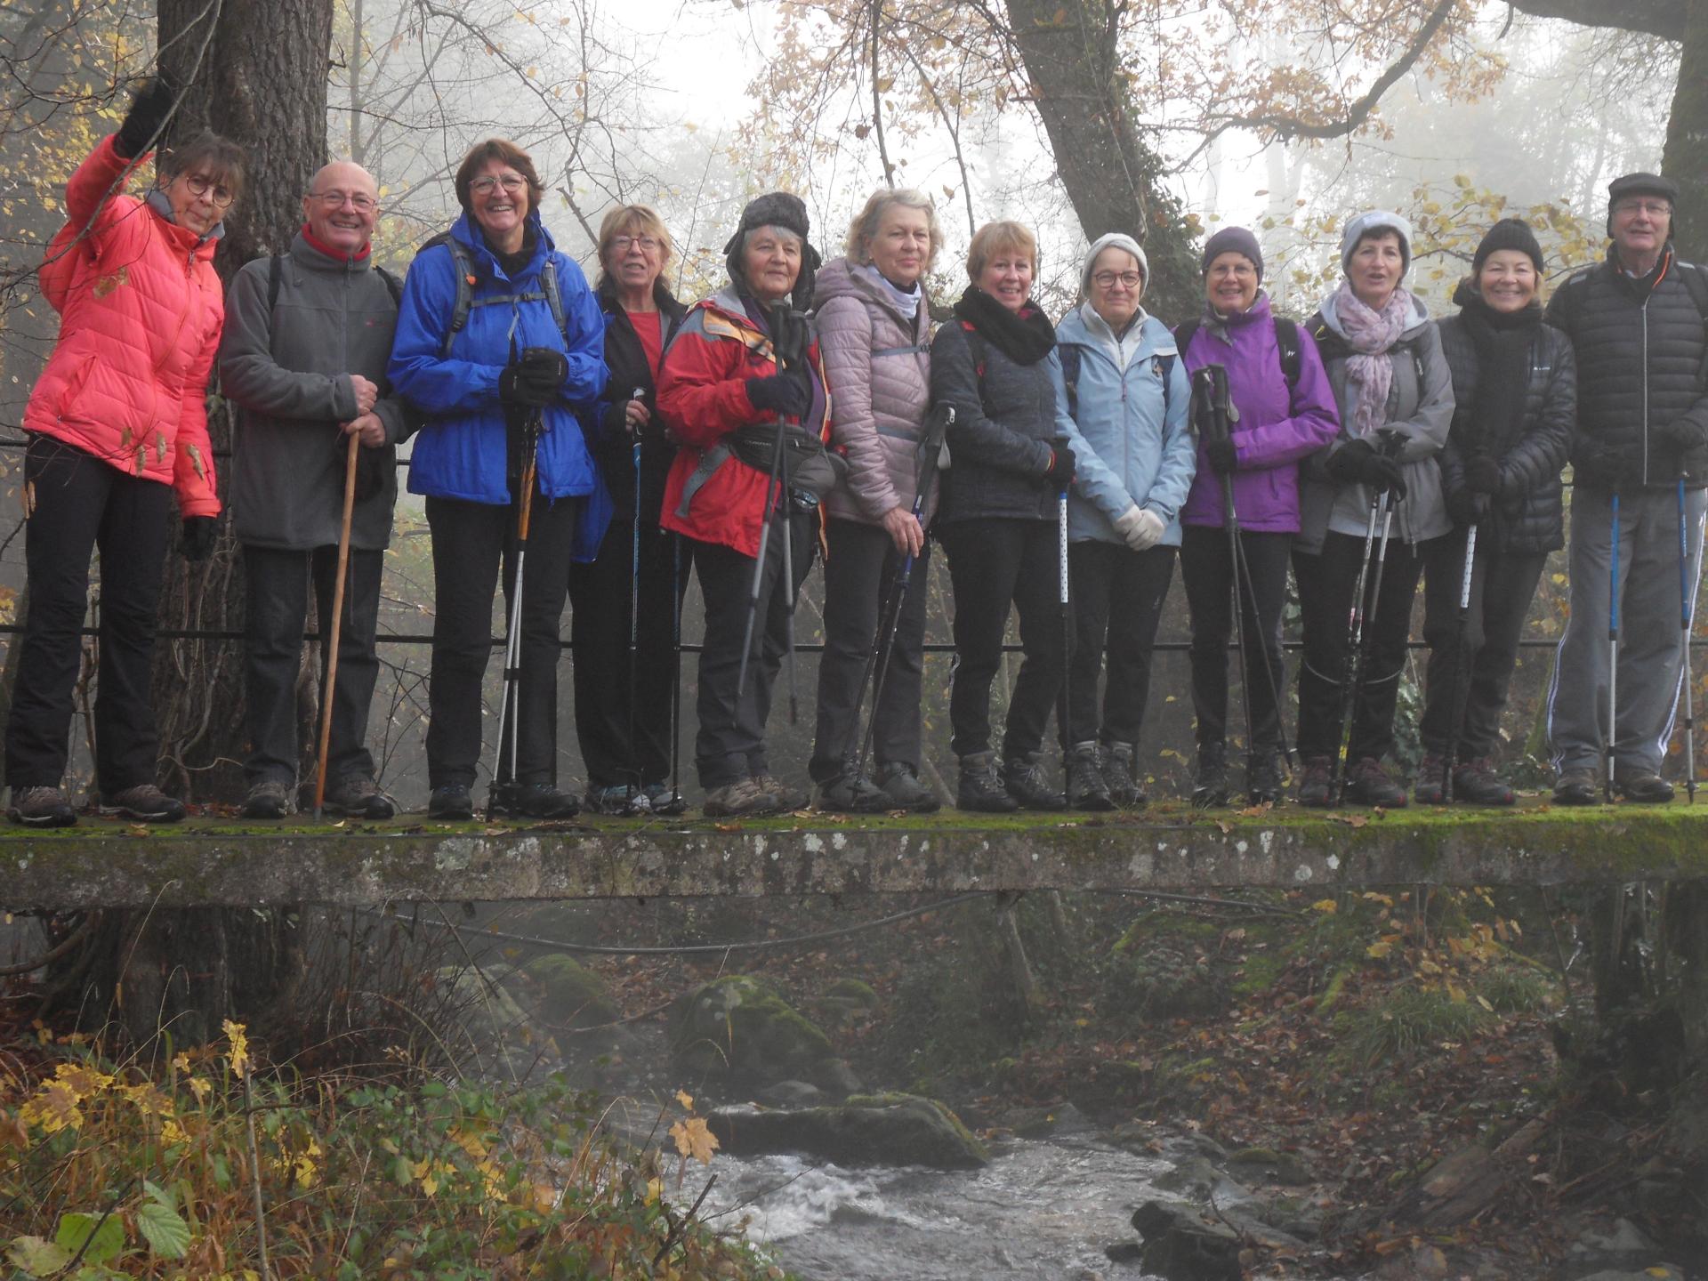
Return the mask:
<svg viewBox="0 0 1708 1281">
<path fill-rule="evenodd" d="M 1074 651 L 1064 728 L 1076 810 L 1144 804 L 1136 758 L 1151 644 L 1197 470 L 1185 366 L 1168 326 L 1139 306 L 1148 275 L 1138 241 L 1100 236 L 1085 256 L 1083 301 L 1056 326 L 1071 415 L 1062 420 L 1078 463 L 1068 499 Z"/>
</svg>

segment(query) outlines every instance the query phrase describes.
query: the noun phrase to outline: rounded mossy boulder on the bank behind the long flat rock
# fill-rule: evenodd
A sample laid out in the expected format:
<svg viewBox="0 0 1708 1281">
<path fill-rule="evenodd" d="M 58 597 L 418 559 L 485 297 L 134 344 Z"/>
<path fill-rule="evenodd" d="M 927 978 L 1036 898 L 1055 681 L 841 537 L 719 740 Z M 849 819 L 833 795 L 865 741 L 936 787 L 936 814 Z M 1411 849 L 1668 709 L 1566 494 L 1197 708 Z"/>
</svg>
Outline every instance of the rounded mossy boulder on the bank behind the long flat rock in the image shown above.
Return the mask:
<svg viewBox="0 0 1708 1281">
<path fill-rule="evenodd" d="M 811 1078 L 834 1057 L 830 1040 L 777 991 L 746 974 L 714 979 L 670 1008 L 666 1028 L 675 1068 L 688 1076 L 721 1076 L 731 1085 L 765 1086 Z"/>
</svg>

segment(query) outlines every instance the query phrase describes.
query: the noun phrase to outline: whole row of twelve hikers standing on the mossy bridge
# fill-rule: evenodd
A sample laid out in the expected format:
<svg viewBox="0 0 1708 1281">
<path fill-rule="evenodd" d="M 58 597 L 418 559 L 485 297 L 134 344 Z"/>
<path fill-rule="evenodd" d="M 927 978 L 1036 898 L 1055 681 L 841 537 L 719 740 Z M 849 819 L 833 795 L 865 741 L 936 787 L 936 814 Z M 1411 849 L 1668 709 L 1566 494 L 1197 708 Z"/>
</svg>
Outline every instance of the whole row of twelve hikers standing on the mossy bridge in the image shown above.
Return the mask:
<svg viewBox="0 0 1708 1281">
<path fill-rule="evenodd" d="M 1144 311 L 1144 249 L 1120 232 L 1091 243 L 1079 302 L 1052 325 L 1033 299 L 1037 239 L 1003 220 L 974 234 L 968 284 L 934 326 L 926 282 L 943 234 L 917 191 L 873 193 L 828 263 L 798 196 L 758 196 L 726 244 L 728 284 L 683 306 L 654 210 L 605 217 L 589 289 L 541 220 L 533 161 L 492 138 L 456 171 L 461 217 L 401 285 L 372 263 L 372 176 L 335 162 L 304 193 L 289 249 L 244 265 L 222 297 L 212 260 L 243 198 L 243 154 L 202 133 L 161 154 L 145 198 L 125 193 L 171 111 L 166 85 L 138 91 L 70 179 L 68 224 L 41 272 L 63 325 L 24 422 L 27 618 L 5 731 L 19 823 L 77 818 L 63 775 L 94 548 L 99 806 L 143 822 L 184 813 L 155 784 L 149 675 L 171 494 L 183 553 L 205 559 L 217 541 L 215 372 L 237 410 L 248 818 L 297 799 L 311 589 L 323 673 L 335 671 L 316 803 L 395 811 L 366 738 L 395 451 L 410 437 L 408 488 L 432 533 L 434 818 L 475 811 L 500 588 L 488 808 L 680 813 L 690 572 L 705 603 L 704 811 L 806 804 L 774 769 L 765 724 L 786 668 L 798 699 L 794 610 L 820 555 L 816 801 L 934 810 L 921 777 L 933 541 L 953 589 L 962 808 L 1144 803 L 1151 649 L 1177 560 L 1194 803 L 1276 803 L 1296 762 L 1301 804 L 1406 804 L 1387 762 L 1421 579 L 1424 755 L 1409 794 L 1510 804 L 1491 758 L 1544 560 L 1566 545 L 1568 461 L 1554 799 L 1672 798 L 1662 762 L 1681 697 L 1689 721 L 1708 482 L 1708 277 L 1674 256 L 1665 178 L 1611 184 L 1606 263 L 1566 280 L 1546 313 L 1544 254 L 1522 220 L 1488 229 L 1459 313 L 1433 319 L 1406 289 L 1409 224 L 1372 210 L 1346 224 L 1344 278 L 1301 325 L 1271 311 L 1262 249 L 1242 227 L 1206 241 L 1204 304 L 1185 325 Z M 1290 567 L 1303 634 L 1291 745 Z M 557 781 L 565 596 L 584 798 Z M 991 693 L 1011 610 L 1023 656 L 997 745 Z M 1052 709 L 1061 782 L 1042 755 Z M 1231 728 L 1243 762 L 1230 758 Z"/>
</svg>

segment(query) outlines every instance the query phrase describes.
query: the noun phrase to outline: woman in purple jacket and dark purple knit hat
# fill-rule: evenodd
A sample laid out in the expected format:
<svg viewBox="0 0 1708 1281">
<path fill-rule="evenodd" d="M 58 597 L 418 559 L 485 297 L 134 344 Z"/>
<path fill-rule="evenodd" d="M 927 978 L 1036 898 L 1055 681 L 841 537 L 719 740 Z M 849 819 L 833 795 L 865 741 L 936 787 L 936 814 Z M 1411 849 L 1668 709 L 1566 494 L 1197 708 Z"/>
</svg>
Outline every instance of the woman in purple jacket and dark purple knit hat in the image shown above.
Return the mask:
<svg viewBox="0 0 1708 1281">
<path fill-rule="evenodd" d="M 1298 533 L 1298 459 L 1339 432 L 1334 389 L 1315 343 L 1276 319 L 1259 289 L 1264 254 L 1243 227 L 1223 227 L 1204 244 L 1204 314 L 1175 338 L 1189 374 L 1228 371 L 1226 439 L 1199 432 L 1197 475 L 1180 509 L 1180 577 L 1192 613 L 1192 705 L 1197 712 L 1197 781 L 1192 803 L 1228 803 L 1228 632 L 1237 594 L 1245 634 L 1252 724 L 1245 726 L 1245 794 L 1252 804 L 1281 796 L 1281 605 Z M 1226 483 L 1250 576 L 1235 577 L 1226 535 Z"/>
</svg>

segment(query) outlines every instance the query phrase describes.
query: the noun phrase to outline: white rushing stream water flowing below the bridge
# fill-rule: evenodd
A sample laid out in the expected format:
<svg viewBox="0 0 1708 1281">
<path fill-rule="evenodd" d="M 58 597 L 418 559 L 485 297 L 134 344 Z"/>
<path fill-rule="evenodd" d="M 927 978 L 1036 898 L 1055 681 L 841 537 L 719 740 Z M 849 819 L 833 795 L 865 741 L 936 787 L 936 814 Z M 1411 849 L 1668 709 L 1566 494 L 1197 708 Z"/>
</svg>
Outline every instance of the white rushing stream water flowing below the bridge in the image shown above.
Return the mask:
<svg viewBox="0 0 1708 1281">
<path fill-rule="evenodd" d="M 799 1156 L 719 1155 L 700 1208 L 810 1281 L 1141 1281 L 1103 1247 L 1138 1238 L 1129 1220 L 1170 1168 L 1073 1134 L 1013 1139 L 982 1170 L 845 1170 Z M 699 1194 L 693 1177 L 678 1196 Z"/>
</svg>

